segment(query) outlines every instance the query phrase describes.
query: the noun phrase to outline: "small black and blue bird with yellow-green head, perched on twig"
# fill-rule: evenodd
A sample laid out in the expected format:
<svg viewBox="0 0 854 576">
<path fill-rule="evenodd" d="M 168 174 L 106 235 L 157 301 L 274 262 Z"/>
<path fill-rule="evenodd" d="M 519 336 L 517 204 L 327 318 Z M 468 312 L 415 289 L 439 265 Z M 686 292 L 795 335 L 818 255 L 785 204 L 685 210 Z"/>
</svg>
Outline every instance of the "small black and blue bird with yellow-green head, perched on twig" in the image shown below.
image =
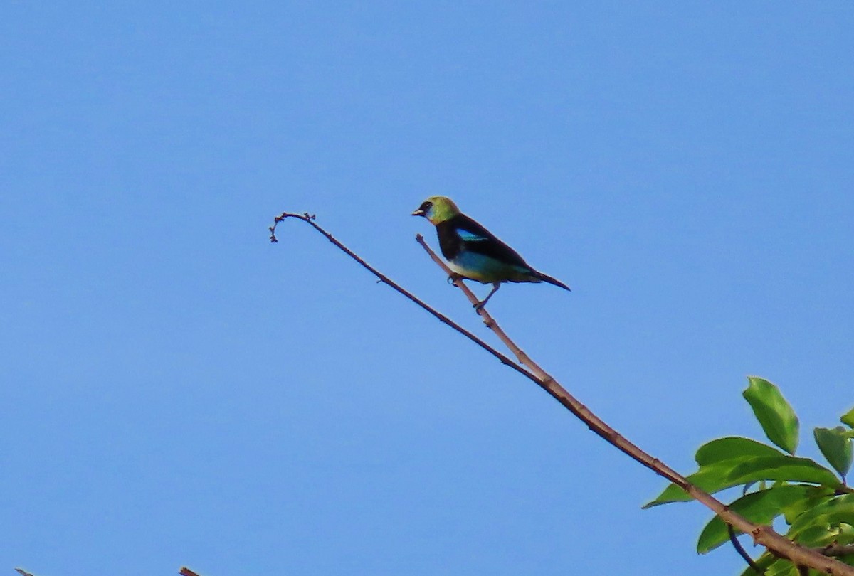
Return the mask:
<svg viewBox="0 0 854 576">
<path fill-rule="evenodd" d="M 436 226 L 442 256 L 447 259 L 454 275 L 492 284 L 487 297 L 474 305 L 477 311 L 486 305 L 502 282 L 548 282 L 570 290 L 564 282 L 536 271 L 512 247 L 459 212 L 457 205 L 447 196 L 430 196 L 412 212 L 412 216 L 423 216 Z"/>
</svg>

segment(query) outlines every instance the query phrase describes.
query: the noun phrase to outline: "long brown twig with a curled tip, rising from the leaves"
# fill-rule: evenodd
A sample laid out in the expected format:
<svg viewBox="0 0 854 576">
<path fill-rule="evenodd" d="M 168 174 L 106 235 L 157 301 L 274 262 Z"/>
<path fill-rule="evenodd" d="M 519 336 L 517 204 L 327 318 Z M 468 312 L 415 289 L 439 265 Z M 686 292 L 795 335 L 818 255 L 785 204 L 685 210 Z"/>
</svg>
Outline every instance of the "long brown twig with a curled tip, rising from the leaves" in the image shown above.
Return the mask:
<svg viewBox="0 0 854 576">
<path fill-rule="evenodd" d="M 347 253 L 348 256 L 356 260 L 360 265 L 366 268 L 366 270 L 371 271 L 371 273 L 374 276 L 377 276 L 377 278 L 379 278 L 381 282 L 388 284 L 389 287 L 394 288 L 398 293 L 406 296 L 409 300 L 412 300 L 413 302 L 418 304 L 425 311 L 430 312 L 430 314 L 438 318 L 443 323 L 446 323 L 448 326 L 457 330 L 460 334 L 465 335 L 469 340 L 475 342 L 478 346 L 481 346 L 484 350 L 493 354 L 494 357 L 498 358 L 502 364 L 506 364 L 507 366 L 512 367 L 512 369 L 515 369 L 518 373 L 526 376 L 527 378 L 529 378 L 529 380 L 534 381 L 538 386 L 546 390 L 547 393 L 551 394 L 554 399 L 558 400 L 560 404 L 562 404 L 567 410 L 570 410 L 572 414 L 574 414 L 582 422 L 587 424 L 588 428 L 590 428 L 594 433 L 605 439 L 609 444 L 617 447 L 617 449 L 623 451 L 629 457 L 633 458 L 636 462 L 642 464 L 646 468 L 650 468 L 656 474 L 663 476 L 665 479 L 670 480 L 672 483 L 676 484 L 676 486 L 679 486 L 682 490 L 687 492 L 689 496 L 693 497 L 699 503 L 703 503 L 707 508 L 711 509 L 711 511 L 714 512 L 717 516 L 719 516 L 722 521 L 738 528 L 741 532 L 751 534 L 754 542 L 756 542 L 757 544 L 762 544 L 772 553 L 786 557 L 798 565 L 809 566 L 815 568 L 816 570 L 822 573 L 832 574 L 833 576 L 854 576 L 854 567 L 847 566 L 842 562 L 834 560 L 833 558 L 828 558 L 828 556 L 822 556 L 822 554 L 816 552 L 815 550 L 804 548 L 799 544 L 795 544 L 791 540 L 784 538 L 783 536 L 775 532 L 772 527 L 762 526 L 748 521 L 745 517 L 738 515 L 732 510 L 728 509 L 727 506 L 718 501 L 717 498 L 711 496 L 711 494 L 709 494 L 708 492 L 700 490 L 697 486 L 693 486 L 693 484 L 688 482 L 688 480 L 686 480 L 684 476 L 659 461 L 658 458 L 654 458 L 647 454 L 645 451 L 640 450 L 638 446 L 632 444 L 631 442 L 629 442 L 628 439 L 623 438 L 623 436 L 617 433 L 616 430 L 608 426 L 604 421 L 599 418 L 599 416 L 594 415 L 593 412 L 588 410 L 587 407 L 585 407 L 572 395 L 570 395 L 570 393 L 568 393 L 564 387 L 560 386 L 559 383 L 555 381 L 551 375 L 548 375 L 537 364 L 530 360 L 530 358 L 528 358 L 528 356 L 525 355 L 524 352 L 518 349 L 518 346 L 515 346 L 515 344 L 513 344 L 513 347 L 511 349 L 518 350 L 517 358 L 519 358 L 519 361 L 523 362 L 532 371 L 536 370 L 536 374 L 519 367 L 518 364 L 513 363 L 509 358 L 507 358 L 506 356 L 483 342 L 483 340 L 480 340 L 479 338 L 477 338 L 477 336 L 471 334 L 471 332 L 469 332 L 468 330 L 460 327 L 459 324 L 454 323 L 452 320 L 445 317 L 440 312 L 434 310 L 432 307 L 430 307 L 430 305 L 425 304 L 422 300 L 418 300 L 418 298 L 407 292 L 407 290 L 401 288 L 400 285 L 389 280 L 387 276 L 383 275 L 381 272 L 371 267 L 371 265 L 368 265 L 365 260 L 361 259 L 348 247 L 344 246 L 340 241 L 337 241 L 332 235 L 330 235 L 329 232 L 321 228 L 318 224 L 315 224 L 313 221 L 314 217 L 312 215 L 309 215 L 308 213 L 300 215 L 290 212 L 283 212 L 281 216 L 278 216 L 276 218 L 275 224 L 270 227 L 271 241 L 278 241 L 275 236 L 276 225 L 279 222 L 282 222 L 285 218 L 297 218 L 302 220 L 303 222 L 306 222 L 307 224 L 310 224 L 315 230 L 318 230 L 322 235 L 324 235 L 327 240 L 335 244 L 336 247 L 339 247 L 344 253 Z M 426 244 L 423 243 L 423 246 L 426 247 Z M 436 258 L 436 260 L 438 260 L 438 258 Z M 441 263 L 441 260 L 439 260 L 439 262 Z M 458 281 L 457 284 L 464 285 L 461 281 Z M 497 324 L 494 322 L 494 319 L 492 319 L 492 317 L 489 317 L 488 315 L 484 317 L 484 322 L 487 322 L 487 325 L 490 329 L 494 329 L 494 327 L 497 326 Z M 497 334 L 498 332 L 496 332 L 496 335 Z M 503 334 L 503 331 L 501 332 L 501 334 Z M 504 335 L 504 338 L 506 338 L 506 335 Z M 506 338 L 506 340 L 510 339 Z"/>
</svg>

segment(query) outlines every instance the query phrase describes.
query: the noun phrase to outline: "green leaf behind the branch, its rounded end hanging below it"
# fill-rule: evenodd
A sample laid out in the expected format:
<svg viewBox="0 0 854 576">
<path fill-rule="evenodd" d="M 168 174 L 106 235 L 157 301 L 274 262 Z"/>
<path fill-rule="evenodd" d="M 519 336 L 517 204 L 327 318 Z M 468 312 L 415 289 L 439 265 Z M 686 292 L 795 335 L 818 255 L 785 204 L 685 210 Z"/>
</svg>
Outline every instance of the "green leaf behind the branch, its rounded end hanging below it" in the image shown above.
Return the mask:
<svg viewBox="0 0 854 576">
<path fill-rule="evenodd" d="M 728 508 L 756 524 L 770 524 L 778 515 L 781 515 L 784 508 L 804 500 L 810 488 L 811 486 L 803 484 L 775 486 L 740 497 L 729 504 Z M 697 552 L 705 554 L 728 540 L 729 532 L 726 522 L 715 516 L 705 525 L 703 532 L 700 532 Z"/>
</svg>

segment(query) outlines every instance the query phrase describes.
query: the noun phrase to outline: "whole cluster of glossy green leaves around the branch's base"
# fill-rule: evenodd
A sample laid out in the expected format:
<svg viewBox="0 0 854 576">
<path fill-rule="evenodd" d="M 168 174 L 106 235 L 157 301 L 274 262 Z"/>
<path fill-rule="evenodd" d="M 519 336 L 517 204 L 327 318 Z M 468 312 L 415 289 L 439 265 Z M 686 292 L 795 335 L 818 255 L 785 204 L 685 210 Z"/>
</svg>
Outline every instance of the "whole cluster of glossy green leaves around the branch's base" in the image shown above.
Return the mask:
<svg viewBox="0 0 854 576">
<path fill-rule="evenodd" d="M 757 524 L 769 525 L 782 517 L 788 526 L 787 538 L 798 544 L 818 548 L 854 544 L 854 489 L 845 484 L 854 459 L 854 409 L 840 418 L 845 427 L 813 430 L 816 445 L 831 470 L 811 458 L 795 456 L 798 416 L 780 389 L 762 378 L 750 377 L 748 382 L 744 398 L 765 436 L 777 448 L 734 436 L 711 440 L 699 447 L 694 458 L 699 469 L 687 480 L 711 493 L 742 486 L 741 496 L 729 508 Z M 671 484 L 644 508 L 690 499 L 679 486 Z M 700 532 L 697 551 L 705 554 L 728 539 L 727 525 L 716 516 Z M 854 566 L 854 554 L 840 556 L 839 560 Z M 755 563 L 766 576 L 798 576 L 792 562 L 767 551 Z M 752 567 L 742 574 L 753 575 Z"/>
</svg>

